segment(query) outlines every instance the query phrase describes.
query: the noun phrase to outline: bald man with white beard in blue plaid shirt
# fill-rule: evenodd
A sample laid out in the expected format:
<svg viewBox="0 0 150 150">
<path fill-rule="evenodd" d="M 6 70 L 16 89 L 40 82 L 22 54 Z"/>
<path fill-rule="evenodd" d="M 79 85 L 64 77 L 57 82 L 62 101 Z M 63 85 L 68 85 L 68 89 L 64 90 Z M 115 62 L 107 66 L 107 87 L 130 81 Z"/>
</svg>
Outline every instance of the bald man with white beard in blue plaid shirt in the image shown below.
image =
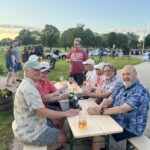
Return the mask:
<svg viewBox="0 0 150 150">
<path fill-rule="evenodd" d="M 109 98 L 96 107 L 88 108 L 90 115 L 112 115 L 123 127 L 122 133 L 112 135 L 116 141 L 143 134 L 150 102 L 150 95 L 137 79 L 137 72 L 133 66 L 127 65 L 123 68 L 122 80 L 123 84 L 117 86 Z M 102 137 L 95 139 L 99 140 Z M 103 144 L 93 144 L 93 150 L 99 150 Z"/>
</svg>

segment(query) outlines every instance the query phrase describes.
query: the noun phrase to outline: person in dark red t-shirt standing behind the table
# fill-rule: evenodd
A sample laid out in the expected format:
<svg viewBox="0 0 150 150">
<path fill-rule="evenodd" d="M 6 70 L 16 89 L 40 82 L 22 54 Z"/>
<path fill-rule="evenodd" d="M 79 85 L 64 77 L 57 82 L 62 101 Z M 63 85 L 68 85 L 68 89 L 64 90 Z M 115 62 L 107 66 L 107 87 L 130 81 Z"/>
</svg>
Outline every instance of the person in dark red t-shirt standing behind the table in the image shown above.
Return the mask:
<svg viewBox="0 0 150 150">
<path fill-rule="evenodd" d="M 66 61 L 70 62 L 70 77 L 73 77 L 78 85 L 83 83 L 83 71 L 84 65 L 83 61 L 88 59 L 88 54 L 81 47 L 81 39 L 74 39 L 74 46 L 67 55 Z"/>
</svg>

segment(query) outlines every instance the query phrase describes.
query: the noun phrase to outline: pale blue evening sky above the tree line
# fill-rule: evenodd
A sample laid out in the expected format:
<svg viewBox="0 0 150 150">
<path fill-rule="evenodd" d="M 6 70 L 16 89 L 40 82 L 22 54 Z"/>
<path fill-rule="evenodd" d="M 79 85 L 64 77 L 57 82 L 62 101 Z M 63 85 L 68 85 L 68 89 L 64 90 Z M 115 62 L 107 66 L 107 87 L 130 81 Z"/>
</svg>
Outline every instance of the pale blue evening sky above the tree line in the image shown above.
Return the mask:
<svg viewBox="0 0 150 150">
<path fill-rule="evenodd" d="M 60 32 L 81 23 L 94 32 L 150 33 L 149 0 L 0 0 L 0 39 L 46 24 Z M 145 30 L 146 29 L 146 30 Z"/>
</svg>

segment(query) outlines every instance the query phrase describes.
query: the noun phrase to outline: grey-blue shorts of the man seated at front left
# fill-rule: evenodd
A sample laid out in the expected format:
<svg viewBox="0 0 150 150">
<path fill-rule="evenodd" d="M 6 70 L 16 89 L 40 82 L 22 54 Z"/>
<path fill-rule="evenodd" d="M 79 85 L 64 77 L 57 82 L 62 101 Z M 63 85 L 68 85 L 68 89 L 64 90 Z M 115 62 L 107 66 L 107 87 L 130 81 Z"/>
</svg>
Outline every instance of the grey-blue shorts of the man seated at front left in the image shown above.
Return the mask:
<svg viewBox="0 0 150 150">
<path fill-rule="evenodd" d="M 48 126 L 46 130 L 35 141 L 33 141 L 33 144 L 38 146 L 50 146 L 56 144 L 60 130 L 51 126 L 52 123 L 48 121 Z"/>
</svg>

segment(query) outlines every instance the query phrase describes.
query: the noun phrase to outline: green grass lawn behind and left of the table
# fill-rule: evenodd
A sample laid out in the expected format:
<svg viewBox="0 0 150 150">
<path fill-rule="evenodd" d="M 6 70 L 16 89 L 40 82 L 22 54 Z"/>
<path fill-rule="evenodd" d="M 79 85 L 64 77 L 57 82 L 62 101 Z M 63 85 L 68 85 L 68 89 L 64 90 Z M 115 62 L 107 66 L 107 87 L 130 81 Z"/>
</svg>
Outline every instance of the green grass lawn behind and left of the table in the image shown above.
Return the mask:
<svg viewBox="0 0 150 150">
<path fill-rule="evenodd" d="M 5 52 L 0 51 L 0 65 L 3 65 L 4 73 L 0 75 L 6 75 L 7 70 L 5 68 Z M 98 62 L 98 57 L 93 57 L 96 62 Z M 47 60 L 48 61 L 48 60 Z M 131 64 L 135 65 L 141 63 L 142 61 L 135 58 L 124 58 L 122 57 L 104 57 L 104 62 L 110 62 L 116 66 L 117 69 L 121 69 L 124 65 Z M 63 75 L 65 79 L 68 76 L 69 64 L 64 60 L 58 60 L 56 63 L 55 70 L 51 71 L 49 78 L 51 80 L 58 80 L 60 75 Z M 13 120 L 13 111 L 8 109 L 5 111 L 0 111 L 0 150 L 8 150 L 11 143 L 13 134 L 11 130 L 11 123 Z"/>
</svg>

